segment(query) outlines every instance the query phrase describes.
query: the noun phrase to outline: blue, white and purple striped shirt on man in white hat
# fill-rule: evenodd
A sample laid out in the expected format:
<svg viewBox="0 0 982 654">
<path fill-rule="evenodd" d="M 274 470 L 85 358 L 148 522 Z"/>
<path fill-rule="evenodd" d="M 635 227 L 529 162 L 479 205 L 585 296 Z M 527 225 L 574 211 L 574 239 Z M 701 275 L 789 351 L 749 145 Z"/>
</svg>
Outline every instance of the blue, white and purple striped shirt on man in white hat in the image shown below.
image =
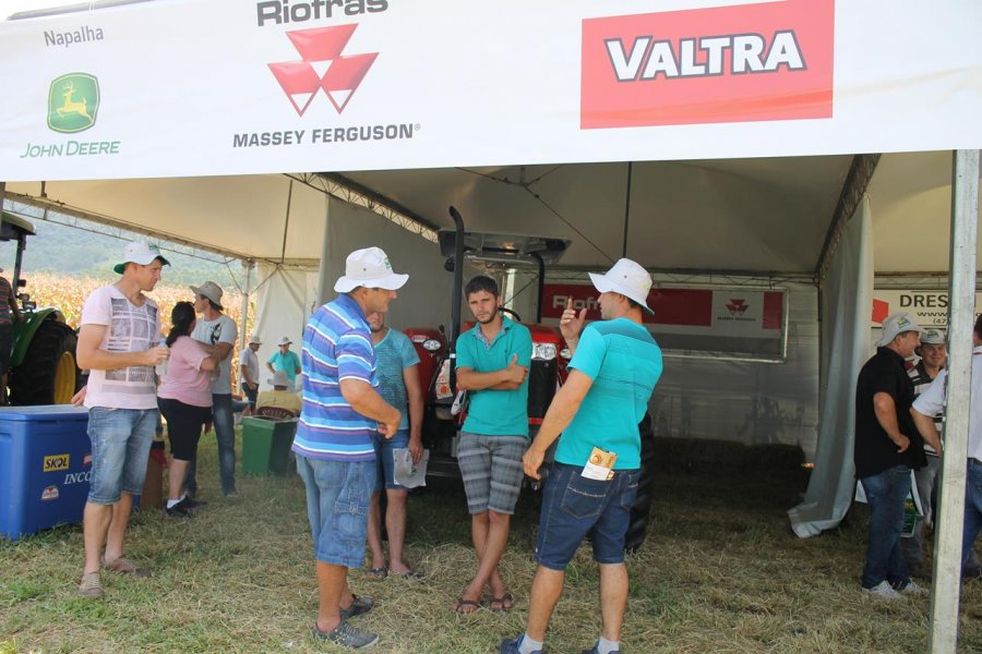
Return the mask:
<svg viewBox="0 0 982 654">
<path fill-rule="evenodd" d="M 311 459 L 373 461 L 379 423 L 355 411 L 340 392 L 343 379 L 379 386 L 361 306 L 342 294 L 314 312 L 303 329 L 300 361 L 306 374 L 294 451 Z"/>
</svg>

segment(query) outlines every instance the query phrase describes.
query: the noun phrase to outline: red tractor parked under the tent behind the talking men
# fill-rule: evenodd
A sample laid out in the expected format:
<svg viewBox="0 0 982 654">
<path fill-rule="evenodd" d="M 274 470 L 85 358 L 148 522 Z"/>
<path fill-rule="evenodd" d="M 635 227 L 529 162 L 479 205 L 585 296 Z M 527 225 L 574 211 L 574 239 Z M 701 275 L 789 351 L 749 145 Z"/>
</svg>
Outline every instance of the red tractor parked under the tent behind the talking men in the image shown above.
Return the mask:
<svg viewBox="0 0 982 654">
<path fill-rule="evenodd" d="M 470 264 L 491 277 L 499 278 L 508 269 L 530 266 L 538 269 L 536 322 L 524 323 L 532 337 L 531 365 L 528 371 L 528 426 L 530 437 L 535 438 L 556 389 L 566 379 L 566 364 L 571 359 L 559 329 L 540 324 L 546 266 L 559 263 L 570 246 L 570 241 L 544 237 L 466 232 L 460 215 L 453 207 L 451 216 L 454 218 L 456 229 L 438 232 L 441 254 L 447 257 L 444 268 L 454 274 L 450 332 L 442 325 L 439 328 L 410 327 L 404 331 L 416 347 L 420 360 L 420 383 L 426 397 L 422 437 L 423 446 L 430 450 L 427 474 L 432 477 L 459 480 L 460 470 L 456 453 L 464 414 L 456 413 L 454 408 L 456 397 L 454 344 L 462 330 L 474 326 L 472 322 L 462 324 L 460 320 L 464 283 L 464 266 L 460 263 Z M 501 283 L 499 286 L 501 287 Z M 502 307 L 501 311 L 512 319 L 522 322 L 522 317 L 511 308 Z M 645 415 L 640 424 L 640 434 L 642 479 L 625 544 L 630 550 L 637 549 L 644 542 L 651 508 L 655 452 L 648 415 Z M 552 460 L 554 448 L 553 444 L 547 455 L 547 461 Z M 534 488 L 538 487 L 538 483 L 532 483 L 528 477 L 526 482 Z"/>
</svg>

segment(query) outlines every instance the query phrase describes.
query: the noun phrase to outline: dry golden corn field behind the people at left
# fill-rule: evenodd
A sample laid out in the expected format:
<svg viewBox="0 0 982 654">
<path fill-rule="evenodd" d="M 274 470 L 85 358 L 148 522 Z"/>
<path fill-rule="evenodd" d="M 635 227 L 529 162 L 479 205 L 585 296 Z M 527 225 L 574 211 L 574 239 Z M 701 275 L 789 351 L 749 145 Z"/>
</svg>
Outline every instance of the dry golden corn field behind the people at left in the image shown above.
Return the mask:
<svg viewBox="0 0 982 654">
<path fill-rule="evenodd" d="M 65 322 L 73 328 L 77 329 L 82 324 L 82 304 L 85 299 L 97 288 L 107 283 L 104 279 L 95 279 L 92 277 L 70 278 L 60 275 L 46 272 L 32 274 L 27 280 L 27 286 L 22 292 L 27 293 L 31 300 L 37 302 L 38 307 L 53 306 L 60 308 L 64 314 Z M 192 301 L 193 293 L 187 286 L 167 286 L 158 283 L 153 292 L 147 293 L 149 298 L 160 307 L 160 322 L 164 335 L 170 331 L 170 312 L 173 305 L 182 300 Z M 242 294 L 238 290 L 226 290 L 221 298 L 221 304 L 225 306 L 225 314 L 236 322 L 241 329 L 242 317 Z M 247 322 L 246 334 L 252 329 L 252 320 L 255 315 L 255 306 L 253 301 L 249 302 L 249 318 Z M 239 343 L 236 342 L 235 350 L 231 355 L 232 360 L 232 388 L 238 388 L 236 374 L 239 360 Z"/>
</svg>

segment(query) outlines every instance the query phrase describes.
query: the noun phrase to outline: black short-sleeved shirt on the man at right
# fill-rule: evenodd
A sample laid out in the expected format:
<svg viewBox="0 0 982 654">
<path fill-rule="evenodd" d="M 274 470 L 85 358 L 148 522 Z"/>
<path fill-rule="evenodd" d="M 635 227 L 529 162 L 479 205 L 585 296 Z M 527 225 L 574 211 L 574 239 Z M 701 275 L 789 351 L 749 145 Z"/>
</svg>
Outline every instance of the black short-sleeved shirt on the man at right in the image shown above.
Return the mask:
<svg viewBox="0 0 982 654">
<path fill-rule="evenodd" d="M 897 451 L 897 444 L 890 440 L 886 431 L 876 420 L 873 396 L 885 392 L 894 398 L 897 411 L 897 426 L 910 439 L 910 447 Z M 863 365 L 855 383 L 855 476 L 863 479 L 879 474 L 897 465 L 923 468 L 924 441 L 921 439 L 910 416 L 910 405 L 914 400 L 913 383 L 903 367 L 903 358 L 889 348 L 877 348 L 876 354 Z"/>
</svg>

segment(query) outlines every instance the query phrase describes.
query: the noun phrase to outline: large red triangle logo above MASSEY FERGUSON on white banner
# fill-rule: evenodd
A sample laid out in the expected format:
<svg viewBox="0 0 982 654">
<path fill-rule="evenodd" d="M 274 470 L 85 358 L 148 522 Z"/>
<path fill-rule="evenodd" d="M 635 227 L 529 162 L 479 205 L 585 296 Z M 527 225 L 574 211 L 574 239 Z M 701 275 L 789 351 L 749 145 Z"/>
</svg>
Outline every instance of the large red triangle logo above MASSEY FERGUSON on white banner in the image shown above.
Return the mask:
<svg viewBox="0 0 982 654">
<path fill-rule="evenodd" d="M 324 89 L 338 113 L 348 106 L 379 56 L 378 52 L 342 55 L 357 27 L 357 24 L 335 25 L 286 33 L 301 61 L 268 66 L 298 116 L 303 116 L 319 89 Z"/>
</svg>

